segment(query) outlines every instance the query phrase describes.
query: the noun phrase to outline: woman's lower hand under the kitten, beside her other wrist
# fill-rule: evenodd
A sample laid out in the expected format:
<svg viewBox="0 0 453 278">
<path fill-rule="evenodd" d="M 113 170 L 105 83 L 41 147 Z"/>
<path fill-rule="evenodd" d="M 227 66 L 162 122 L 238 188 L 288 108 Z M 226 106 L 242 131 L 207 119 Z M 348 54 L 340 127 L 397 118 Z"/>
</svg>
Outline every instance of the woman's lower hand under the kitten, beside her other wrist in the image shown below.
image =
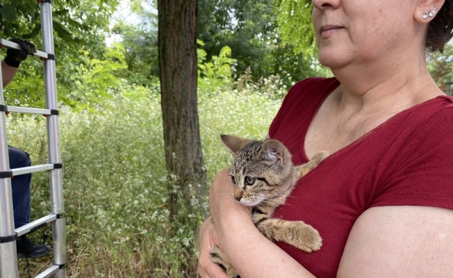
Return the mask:
<svg viewBox="0 0 453 278">
<path fill-rule="evenodd" d="M 199 258 L 198 258 L 198 273 L 201 278 L 228 278 L 219 265 L 211 261 L 210 251 L 212 247 L 218 242 L 217 233 L 215 232 L 214 223 L 212 218 L 204 221 L 200 229 L 199 235 Z"/>
</svg>

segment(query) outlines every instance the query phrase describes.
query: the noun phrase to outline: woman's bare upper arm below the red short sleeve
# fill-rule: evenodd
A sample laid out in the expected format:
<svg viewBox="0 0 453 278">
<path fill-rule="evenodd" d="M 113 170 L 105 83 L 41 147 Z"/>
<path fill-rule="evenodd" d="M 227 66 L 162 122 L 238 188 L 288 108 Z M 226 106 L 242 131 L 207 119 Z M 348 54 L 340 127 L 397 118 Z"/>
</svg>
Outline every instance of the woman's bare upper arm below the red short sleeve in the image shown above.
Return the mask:
<svg viewBox="0 0 453 278">
<path fill-rule="evenodd" d="M 352 228 L 337 277 L 452 277 L 453 211 L 378 206 Z"/>
</svg>

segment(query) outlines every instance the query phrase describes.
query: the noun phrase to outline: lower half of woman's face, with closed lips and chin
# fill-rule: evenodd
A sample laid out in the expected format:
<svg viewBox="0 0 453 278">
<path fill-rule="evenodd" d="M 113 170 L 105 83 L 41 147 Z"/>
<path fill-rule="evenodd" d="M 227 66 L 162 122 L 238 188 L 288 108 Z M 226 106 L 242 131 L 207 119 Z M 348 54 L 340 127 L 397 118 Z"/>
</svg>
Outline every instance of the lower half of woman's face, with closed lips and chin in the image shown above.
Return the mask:
<svg viewBox="0 0 453 278">
<path fill-rule="evenodd" d="M 414 32 L 416 1 L 312 0 L 320 63 L 331 69 L 395 58 L 422 40 Z M 416 37 L 416 38 L 414 38 Z"/>
</svg>

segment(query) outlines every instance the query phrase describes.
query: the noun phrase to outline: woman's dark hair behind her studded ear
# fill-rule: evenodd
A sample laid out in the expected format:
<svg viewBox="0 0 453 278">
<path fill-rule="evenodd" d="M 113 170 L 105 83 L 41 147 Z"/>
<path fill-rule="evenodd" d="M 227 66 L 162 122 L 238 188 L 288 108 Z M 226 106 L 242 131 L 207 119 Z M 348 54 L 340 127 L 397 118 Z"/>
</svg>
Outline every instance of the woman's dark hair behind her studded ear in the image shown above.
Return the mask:
<svg viewBox="0 0 453 278">
<path fill-rule="evenodd" d="M 436 17 L 429 22 L 426 47 L 430 51 L 443 51 L 445 44 L 453 37 L 453 0 L 445 0 Z"/>
</svg>

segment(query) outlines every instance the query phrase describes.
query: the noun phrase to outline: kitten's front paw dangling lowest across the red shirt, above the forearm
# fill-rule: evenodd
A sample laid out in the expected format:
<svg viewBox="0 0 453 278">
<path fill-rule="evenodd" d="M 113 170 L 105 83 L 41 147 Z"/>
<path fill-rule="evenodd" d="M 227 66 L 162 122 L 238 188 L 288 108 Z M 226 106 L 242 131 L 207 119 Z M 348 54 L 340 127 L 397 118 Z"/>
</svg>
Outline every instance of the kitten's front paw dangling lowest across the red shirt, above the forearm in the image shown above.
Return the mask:
<svg viewBox="0 0 453 278">
<path fill-rule="evenodd" d="M 293 222 L 293 233 L 291 235 L 291 243 L 300 250 L 305 252 L 313 252 L 320 250 L 322 246 L 322 238 L 320 233 L 308 224 L 302 221 Z"/>
</svg>

